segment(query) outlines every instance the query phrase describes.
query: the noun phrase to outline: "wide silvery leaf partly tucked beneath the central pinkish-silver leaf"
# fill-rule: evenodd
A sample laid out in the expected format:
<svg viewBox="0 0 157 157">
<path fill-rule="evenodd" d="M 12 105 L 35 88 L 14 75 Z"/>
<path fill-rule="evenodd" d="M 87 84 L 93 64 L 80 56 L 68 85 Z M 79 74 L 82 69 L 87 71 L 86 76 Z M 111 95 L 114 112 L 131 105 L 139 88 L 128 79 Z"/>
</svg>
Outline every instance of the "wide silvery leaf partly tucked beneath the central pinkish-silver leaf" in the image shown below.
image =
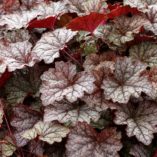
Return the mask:
<svg viewBox="0 0 157 157">
<path fill-rule="evenodd" d="M 86 104 L 79 105 L 77 103 L 71 104 L 69 102 L 55 102 L 45 108 L 44 121 L 50 122 L 58 120 L 61 123 L 71 122 L 75 125 L 77 122 L 97 121 L 100 117 L 99 112 L 94 108 L 88 107 Z"/>
</svg>

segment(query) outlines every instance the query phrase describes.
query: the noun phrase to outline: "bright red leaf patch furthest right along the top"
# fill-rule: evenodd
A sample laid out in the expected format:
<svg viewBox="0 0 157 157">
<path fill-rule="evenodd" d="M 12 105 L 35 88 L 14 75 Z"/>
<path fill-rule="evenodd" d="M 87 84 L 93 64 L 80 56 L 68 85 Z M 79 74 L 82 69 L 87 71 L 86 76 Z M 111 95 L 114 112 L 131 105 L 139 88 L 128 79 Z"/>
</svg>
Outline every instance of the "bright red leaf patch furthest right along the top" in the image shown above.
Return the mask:
<svg viewBox="0 0 157 157">
<path fill-rule="evenodd" d="M 126 15 L 128 13 L 131 14 L 139 14 L 140 12 L 136 8 L 130 8 L 129 6 L 120 6 L 120 5 L 113 5 L 109 6 L 111 12 L 108 14 L 108 18 L 113 19 L 115 17 L 119 17 L 121 15 Z"/>
</svg>

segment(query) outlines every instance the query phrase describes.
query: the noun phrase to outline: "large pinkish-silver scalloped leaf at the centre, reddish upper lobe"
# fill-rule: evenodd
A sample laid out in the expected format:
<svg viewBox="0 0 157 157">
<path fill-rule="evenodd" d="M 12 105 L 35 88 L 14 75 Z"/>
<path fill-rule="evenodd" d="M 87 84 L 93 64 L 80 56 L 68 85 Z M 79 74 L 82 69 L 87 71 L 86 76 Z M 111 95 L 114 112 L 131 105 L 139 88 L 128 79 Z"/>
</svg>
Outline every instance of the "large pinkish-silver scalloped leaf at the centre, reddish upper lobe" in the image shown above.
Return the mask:
<svg viewBox="0 0 157 157">
<path fill-rule="evenodd" d="M 94 90 L 94 77 L 87 72 L 76 71 L 76 65 L 70 62 L 56 62 L 55 68 L 50 68 L 41 76 L 42 85 L 40 92 L 43 105 L 61 101 L 64 97 L 74 102 L 92 93 Z"/>
</svg>

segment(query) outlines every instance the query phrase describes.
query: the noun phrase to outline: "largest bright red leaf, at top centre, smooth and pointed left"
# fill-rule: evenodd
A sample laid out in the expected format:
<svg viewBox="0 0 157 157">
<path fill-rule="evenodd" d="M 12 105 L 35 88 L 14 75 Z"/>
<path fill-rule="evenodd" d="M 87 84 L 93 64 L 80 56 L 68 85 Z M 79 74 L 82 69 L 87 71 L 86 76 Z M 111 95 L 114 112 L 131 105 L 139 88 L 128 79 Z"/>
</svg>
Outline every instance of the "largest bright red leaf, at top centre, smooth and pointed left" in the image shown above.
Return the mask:
<svg viewBox="0 0 157 157">
<path fill-rule="evenodd" d="M 106 15 L 99 13 L 90 13 L 89 15 L 77 17 L 73 19 L 68 25 L 67 28 L 72 29 L 73 31 L 88 31 L 93 33 L 93 31 L 104 21 L 107 20 Z"/>
</svg>

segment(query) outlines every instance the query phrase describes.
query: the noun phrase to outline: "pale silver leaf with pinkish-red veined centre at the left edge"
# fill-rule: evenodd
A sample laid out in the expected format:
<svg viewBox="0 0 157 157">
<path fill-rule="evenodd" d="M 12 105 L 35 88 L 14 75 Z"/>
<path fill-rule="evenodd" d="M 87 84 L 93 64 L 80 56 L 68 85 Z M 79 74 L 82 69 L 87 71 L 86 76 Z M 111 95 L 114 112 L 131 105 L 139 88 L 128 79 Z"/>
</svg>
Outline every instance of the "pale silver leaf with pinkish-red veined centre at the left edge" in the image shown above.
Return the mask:
<svg viewBox="0 0 157 157">
<path fill-rule="evenodd" d="M 0 48 L 0 58 L 9 71 L 32 67 L 37 62 L 37 56 L 31 48 L 32 44 L 28 41 L 11 43 Z"/>
</svg>

